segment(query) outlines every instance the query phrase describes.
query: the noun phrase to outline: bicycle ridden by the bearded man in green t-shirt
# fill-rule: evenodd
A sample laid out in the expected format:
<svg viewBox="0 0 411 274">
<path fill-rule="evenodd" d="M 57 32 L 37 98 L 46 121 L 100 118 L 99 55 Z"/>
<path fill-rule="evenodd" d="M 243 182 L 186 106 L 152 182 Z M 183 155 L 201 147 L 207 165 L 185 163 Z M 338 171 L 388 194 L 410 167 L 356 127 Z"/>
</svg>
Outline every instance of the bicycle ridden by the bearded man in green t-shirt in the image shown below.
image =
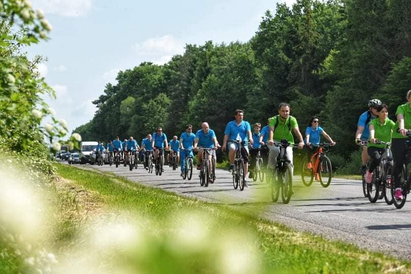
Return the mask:
<svg viewBox="0 0 411 274">
<path fill-rule="evenodd" d="M 281 190 L 281 199 L 283 203 L 289 203 L 291 199 L 292 186 L 293 186 L 293 174 L 291 170 L 291 162 L 287 159 L 287 147 L 290 145 L 287 140 L 281 140 L 281 143 L 275 143 L 273 146 L 280 148 L 280 153 L 277 157 L 277 166 L 272 169 L 271 172 L 271 199 L 273 202 L 277 202 Z M 298 147 L 298 144 L 292 146 Z"/>
</svg>

